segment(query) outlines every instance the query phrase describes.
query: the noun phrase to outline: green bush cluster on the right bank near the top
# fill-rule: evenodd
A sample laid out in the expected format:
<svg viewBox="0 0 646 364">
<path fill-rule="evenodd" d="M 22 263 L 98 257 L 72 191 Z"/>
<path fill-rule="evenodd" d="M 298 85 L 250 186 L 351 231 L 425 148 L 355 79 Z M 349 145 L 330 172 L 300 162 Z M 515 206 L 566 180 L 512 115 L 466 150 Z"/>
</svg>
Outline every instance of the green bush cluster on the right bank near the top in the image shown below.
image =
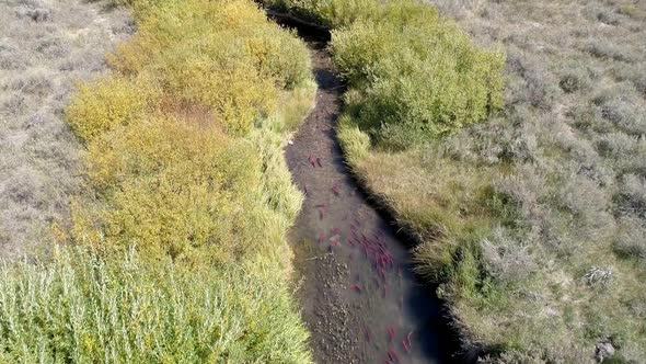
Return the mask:
<svg viewBox="0 0 646 364">
<path fill-rule="evenodd" d="M 269 1 L 333 26 L 346 115 L 381 148 L 405 149 L 486 120 L 503 105 L 505 57 L 413 1 Z M 348 19 L 344 16 L 350 16 Z"/>
</svg>

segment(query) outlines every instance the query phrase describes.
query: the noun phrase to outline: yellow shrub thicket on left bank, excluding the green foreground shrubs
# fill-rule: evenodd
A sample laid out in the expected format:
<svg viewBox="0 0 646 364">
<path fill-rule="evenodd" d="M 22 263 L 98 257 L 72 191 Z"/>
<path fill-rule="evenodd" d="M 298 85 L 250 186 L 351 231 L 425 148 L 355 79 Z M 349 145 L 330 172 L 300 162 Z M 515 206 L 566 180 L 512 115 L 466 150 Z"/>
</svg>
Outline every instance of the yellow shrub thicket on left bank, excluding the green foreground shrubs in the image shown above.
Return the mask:
<svg viewBox="0 0 646 364">
<path fill-rule="evenodd" d="M 124 76 L 70 106 L 74 130 L 92 130 L 79 135 L 92 135 L 95 196 L 74 204 L 77 240 L 218 264 L 280 241 L 301 202 L 280 148 L 314 95 L 307 47 L 246 0 L 159 1 L 138 14 L 138 35 L 111 59 Z M 140 80 L 155 80 L 159 94 L 124 91 Z M 147 115 L 97 105 L 80 117 L 86 100 L 145 105 Z M 264 226 L 273 219 L 276 231 Z"/>
</svg>

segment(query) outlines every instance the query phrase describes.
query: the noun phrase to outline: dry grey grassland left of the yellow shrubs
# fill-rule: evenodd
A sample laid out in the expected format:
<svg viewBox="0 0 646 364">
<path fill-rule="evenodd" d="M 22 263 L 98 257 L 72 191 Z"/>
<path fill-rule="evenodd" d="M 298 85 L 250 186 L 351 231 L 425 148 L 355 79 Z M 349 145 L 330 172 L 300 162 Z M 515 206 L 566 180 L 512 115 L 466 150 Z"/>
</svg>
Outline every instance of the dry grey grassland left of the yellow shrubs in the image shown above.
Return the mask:
<svg viewBox="0 0 646 364">
<path fill-rule="evenodd" d="M 68 223 L 81 151 L 62 109 L 76 82 L 105 70 L 129 22 L 101 3 L 0 1 L 0 255 L 44 246 Z"/>
</svg>

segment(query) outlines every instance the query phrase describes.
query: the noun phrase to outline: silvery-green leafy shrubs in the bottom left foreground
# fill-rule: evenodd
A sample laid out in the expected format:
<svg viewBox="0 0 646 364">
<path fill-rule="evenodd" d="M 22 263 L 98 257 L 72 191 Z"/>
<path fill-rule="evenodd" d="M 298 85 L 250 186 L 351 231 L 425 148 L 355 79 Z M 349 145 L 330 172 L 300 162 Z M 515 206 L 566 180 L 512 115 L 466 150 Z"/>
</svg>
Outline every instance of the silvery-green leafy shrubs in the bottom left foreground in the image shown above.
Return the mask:
<svg viewBox="0 0 646 364">
<path fill-rule="evenodd" d="M 3 263 L 0 362 L 309 362 L 285 281 L 245 269 L 191 271 L 70 248 Z"/>
</svg>

